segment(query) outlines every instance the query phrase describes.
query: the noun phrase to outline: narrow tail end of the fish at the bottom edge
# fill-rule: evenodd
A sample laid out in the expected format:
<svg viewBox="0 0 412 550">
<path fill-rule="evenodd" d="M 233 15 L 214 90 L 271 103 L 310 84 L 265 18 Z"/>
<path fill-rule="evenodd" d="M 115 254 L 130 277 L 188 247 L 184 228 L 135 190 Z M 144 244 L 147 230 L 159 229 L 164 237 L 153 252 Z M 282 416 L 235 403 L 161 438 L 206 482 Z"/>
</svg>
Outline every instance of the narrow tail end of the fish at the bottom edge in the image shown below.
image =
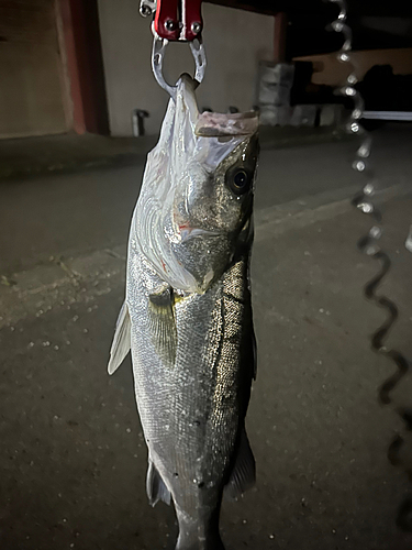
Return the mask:
<svg viewBox="0 0 412 550">
<path fill-rule="evenodd" d="M 187 519 L 177 507 L 176 512 L 179 521 L 176 550 L 225 550 L 219 532 L 219 510 L 203 520 Z"/>
</svg>

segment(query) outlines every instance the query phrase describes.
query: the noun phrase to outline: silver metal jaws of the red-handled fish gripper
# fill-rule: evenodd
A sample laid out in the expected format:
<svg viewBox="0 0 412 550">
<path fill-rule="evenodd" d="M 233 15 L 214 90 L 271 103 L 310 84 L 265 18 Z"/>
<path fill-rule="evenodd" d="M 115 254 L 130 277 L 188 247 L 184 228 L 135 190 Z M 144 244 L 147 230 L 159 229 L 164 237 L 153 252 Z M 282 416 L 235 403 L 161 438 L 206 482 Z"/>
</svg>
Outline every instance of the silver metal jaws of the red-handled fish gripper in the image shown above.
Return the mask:
<svg viewBox="0 0 412 550">
<path fill-rule="evenodd" d="M 160 38 L 157 34 L 155 34 L 152 50 L 152 68 L 157 84 L 166 90 L 174 100 L 176 100 L 176 86 L 167 84 L 163 76 L 163 59 L 165 57 L 165 50 L 168 43 L 168 40 Z M 189 44 L 196 65 L 194 80 L 200 84 L 203 80 L 207 66 L 204 46 L 200 36 Z"/>
</svg>

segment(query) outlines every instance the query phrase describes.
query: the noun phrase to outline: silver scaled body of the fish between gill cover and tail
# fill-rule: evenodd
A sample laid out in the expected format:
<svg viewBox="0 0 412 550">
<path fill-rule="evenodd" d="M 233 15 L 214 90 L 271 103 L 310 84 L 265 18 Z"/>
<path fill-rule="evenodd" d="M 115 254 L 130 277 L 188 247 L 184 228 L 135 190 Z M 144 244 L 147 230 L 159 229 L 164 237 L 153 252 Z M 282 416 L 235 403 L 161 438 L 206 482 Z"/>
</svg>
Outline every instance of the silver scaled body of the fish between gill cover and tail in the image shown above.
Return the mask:
<svg viewBox="0 0 412 550">
<path fill-rule="evenodd" d="M 149 457 L 181 509 L 210 512 L 233 462 L 253 375 L 246 261 L 203 295 L 176 304 L 171 367 L 158 358 L 147 323 L 149 296 L 162 280 L 133 248 L 130 265 L 133 371 Z"/>
</svg>

